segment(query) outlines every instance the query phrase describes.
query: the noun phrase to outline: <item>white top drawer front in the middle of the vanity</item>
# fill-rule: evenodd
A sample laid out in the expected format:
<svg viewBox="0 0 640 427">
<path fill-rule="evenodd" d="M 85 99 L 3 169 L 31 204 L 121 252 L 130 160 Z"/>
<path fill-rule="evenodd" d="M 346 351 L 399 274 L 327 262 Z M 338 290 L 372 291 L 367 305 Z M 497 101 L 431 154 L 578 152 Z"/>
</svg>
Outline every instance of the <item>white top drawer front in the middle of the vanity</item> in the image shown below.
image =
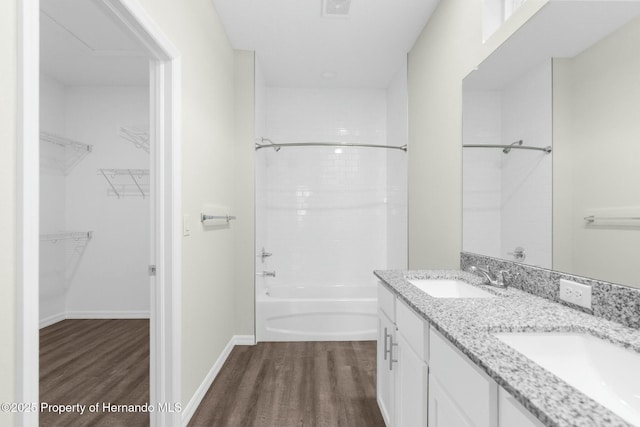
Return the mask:
<svg viewBox="0 0 640 427">
<path fill-rule="evenodd" d="M 429 331 L 429 374 L 477 427 L 498 424 L 498 385 L 434 328 Z"/>
</svg>

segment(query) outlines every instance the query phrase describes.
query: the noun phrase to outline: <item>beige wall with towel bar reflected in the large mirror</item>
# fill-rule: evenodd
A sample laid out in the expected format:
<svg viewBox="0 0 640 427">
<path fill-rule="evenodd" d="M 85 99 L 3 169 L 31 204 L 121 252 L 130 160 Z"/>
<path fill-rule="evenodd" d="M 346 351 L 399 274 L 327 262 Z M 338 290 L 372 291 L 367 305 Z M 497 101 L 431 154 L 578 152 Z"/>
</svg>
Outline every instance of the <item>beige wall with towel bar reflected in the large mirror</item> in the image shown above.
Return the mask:
<svg viewBox="0 0 640 427">
<path fill-rule="evenodd" d="M 573 59 L 554 61 L 554 268 L 640 287 L 640 20 Z M 606 260 L 606 261 L 602 261 Z"/>
</svg>

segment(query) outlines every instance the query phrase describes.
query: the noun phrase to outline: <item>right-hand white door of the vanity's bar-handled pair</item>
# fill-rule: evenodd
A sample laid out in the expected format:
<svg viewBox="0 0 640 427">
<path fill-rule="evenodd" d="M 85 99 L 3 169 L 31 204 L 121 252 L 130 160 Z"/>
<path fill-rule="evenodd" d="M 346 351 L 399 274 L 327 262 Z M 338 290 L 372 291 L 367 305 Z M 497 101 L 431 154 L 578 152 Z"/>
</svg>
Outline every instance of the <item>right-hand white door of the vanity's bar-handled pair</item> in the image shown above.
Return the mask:
<svg viewBox="0 0 640 427">
<path fill-rule="evenodd" d="M 396 426 L 427 426 L 427 365 L 402 334 L 396 332 Z"/>
</svg>

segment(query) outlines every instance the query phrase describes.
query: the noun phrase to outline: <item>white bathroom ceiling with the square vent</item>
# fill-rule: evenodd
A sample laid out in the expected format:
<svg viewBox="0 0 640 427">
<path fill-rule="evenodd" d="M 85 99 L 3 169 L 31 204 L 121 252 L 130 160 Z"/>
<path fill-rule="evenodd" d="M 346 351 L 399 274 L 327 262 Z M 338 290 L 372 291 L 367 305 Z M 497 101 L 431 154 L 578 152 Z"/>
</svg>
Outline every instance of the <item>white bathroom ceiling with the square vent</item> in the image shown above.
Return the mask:
<svg viewBox="0 0 640 427">
<path fill-rule="evenodd" d="M 267 86 L 386 88 L 438 0 L 351 0 L 346 17 L 323 16 L 323 0 L 212 2 Z"/>
</svg>

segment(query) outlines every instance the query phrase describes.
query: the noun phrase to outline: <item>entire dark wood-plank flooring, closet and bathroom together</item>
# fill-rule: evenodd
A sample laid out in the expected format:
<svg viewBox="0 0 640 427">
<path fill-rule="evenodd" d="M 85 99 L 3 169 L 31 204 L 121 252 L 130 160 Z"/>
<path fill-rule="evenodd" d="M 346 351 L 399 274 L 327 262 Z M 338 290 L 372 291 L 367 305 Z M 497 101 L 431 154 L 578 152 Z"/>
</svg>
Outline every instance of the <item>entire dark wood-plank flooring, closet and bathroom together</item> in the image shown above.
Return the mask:
<svg viewBox="0 0 640 427">
<path fill-rule="evenodd" d="M 375 342 L 237 346 L 189 425 L 384 427 L 375 393 Z M 65 320 L 40 331 L 41 402 L 148 400 L 148 320 Z M 40 425 L 142 427 L 149 416 L 41 412 Z"/>
</svg>

